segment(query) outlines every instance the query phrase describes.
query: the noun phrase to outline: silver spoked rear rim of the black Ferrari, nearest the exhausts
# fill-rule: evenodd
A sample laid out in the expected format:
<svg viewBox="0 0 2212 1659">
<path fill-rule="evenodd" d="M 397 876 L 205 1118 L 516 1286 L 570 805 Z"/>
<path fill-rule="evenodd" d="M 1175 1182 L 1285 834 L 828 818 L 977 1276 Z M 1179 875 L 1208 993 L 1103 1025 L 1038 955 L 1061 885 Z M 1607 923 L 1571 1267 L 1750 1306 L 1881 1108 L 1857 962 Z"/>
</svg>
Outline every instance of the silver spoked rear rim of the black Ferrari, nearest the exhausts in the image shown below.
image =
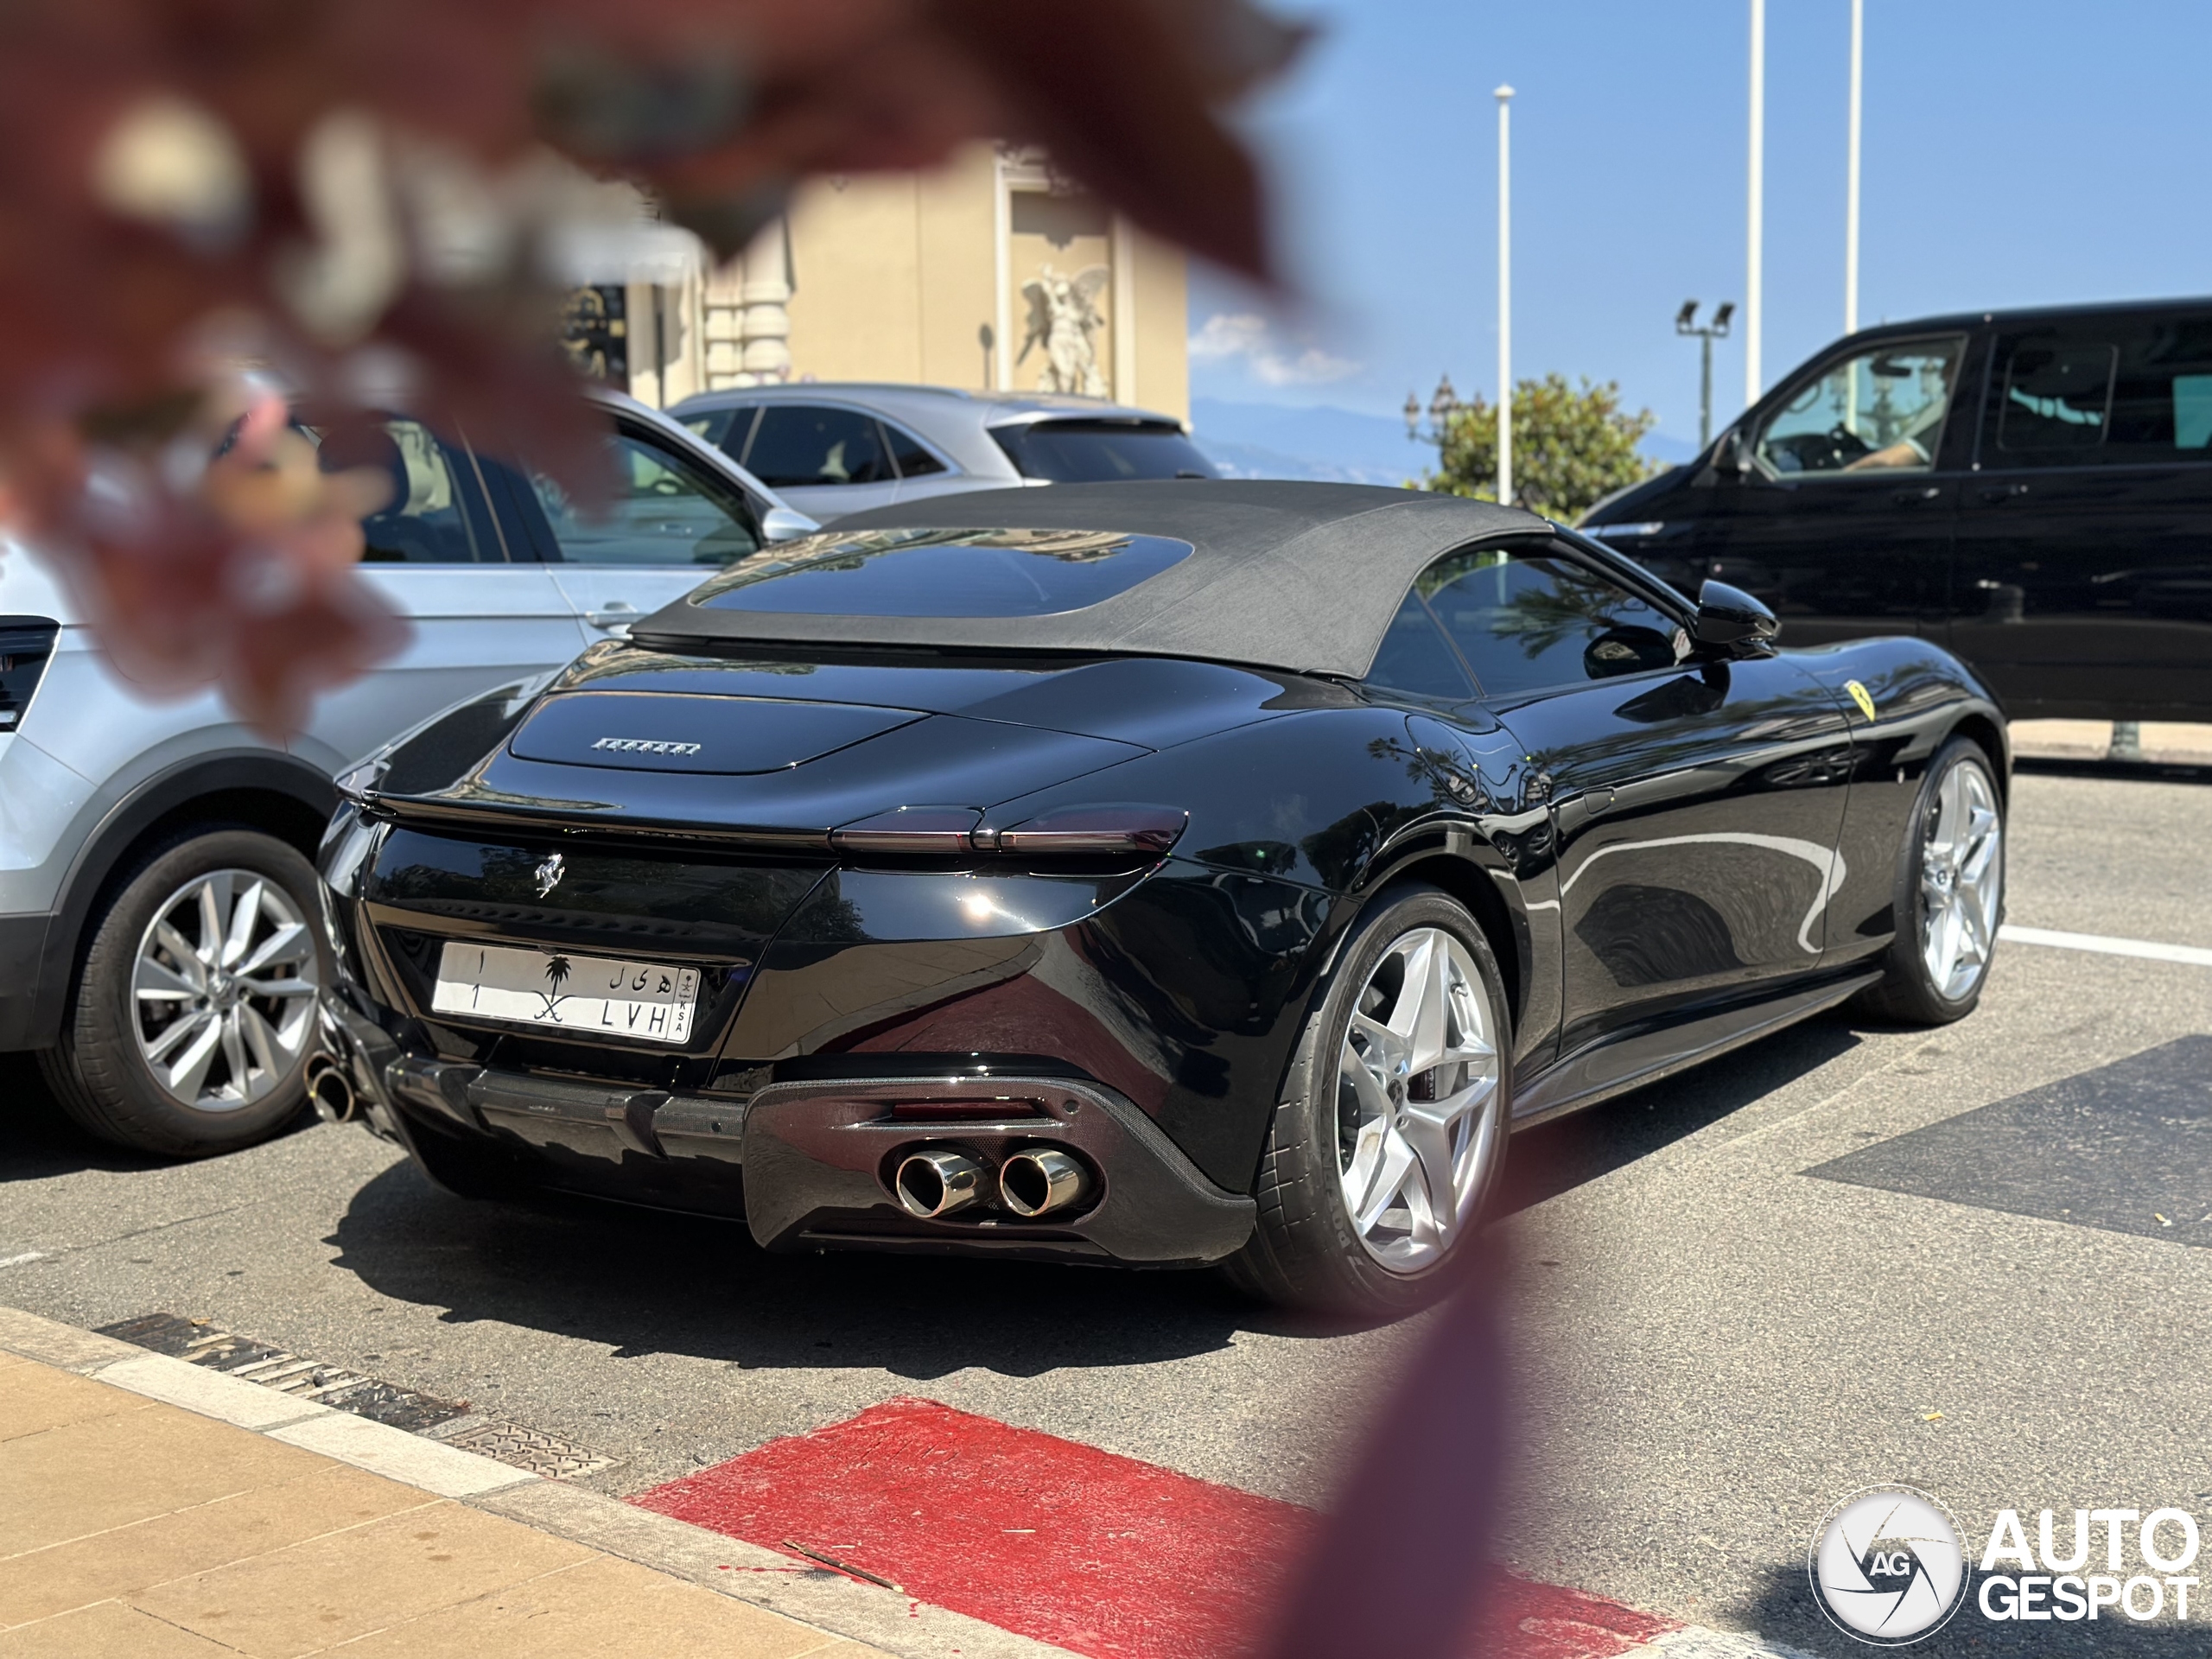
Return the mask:
<svg viewBox="0 0 2212 1659">
<path fill-rule="evenodd" d="M 1336 1175 L 1391 1272 L 1436 1263 L 1489 1186 L 1502 1139 L 1498 1033 L 1473 953 L 1440 927 L 1391 942 L 1336 1062 Z"/>
</svg>

